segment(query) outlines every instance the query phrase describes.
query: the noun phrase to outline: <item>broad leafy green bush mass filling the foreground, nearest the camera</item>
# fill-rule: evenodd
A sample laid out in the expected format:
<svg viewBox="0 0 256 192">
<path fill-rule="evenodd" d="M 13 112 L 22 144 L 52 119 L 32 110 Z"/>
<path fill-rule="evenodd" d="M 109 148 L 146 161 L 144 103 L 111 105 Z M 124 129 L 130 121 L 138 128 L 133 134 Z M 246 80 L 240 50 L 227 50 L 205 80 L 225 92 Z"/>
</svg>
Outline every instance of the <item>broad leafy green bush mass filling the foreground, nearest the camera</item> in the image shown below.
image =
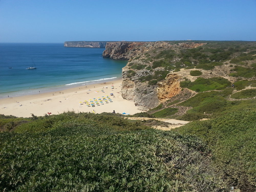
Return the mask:
<svg viewBox="0 0 256 192">
<path fill-rule="evenodd" d="M 218 191 L 229 188 L 210 166 L 209 151 L 197 138 L 152 129 L 122 131 L 109 126 L 110 119 L 101 123 L 82 118 L 83 115 L 98 119 L 113 117 L 78 114 L 63 119 L 63 115 L 60 118 L 56 115 L 59 121 L 53 123 L 52 129 L 37 127 L 39 132 L 0 133 L 0 190 Z"/>
</svg>

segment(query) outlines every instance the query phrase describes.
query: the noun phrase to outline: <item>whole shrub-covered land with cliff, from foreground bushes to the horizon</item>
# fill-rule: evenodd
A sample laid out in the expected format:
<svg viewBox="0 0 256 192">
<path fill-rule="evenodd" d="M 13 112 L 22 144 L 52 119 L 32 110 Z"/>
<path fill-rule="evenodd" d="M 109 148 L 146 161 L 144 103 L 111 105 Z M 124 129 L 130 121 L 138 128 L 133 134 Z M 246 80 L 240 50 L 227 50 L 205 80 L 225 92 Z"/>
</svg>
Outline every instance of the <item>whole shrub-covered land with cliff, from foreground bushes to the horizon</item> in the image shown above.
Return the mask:
<svg viewBox="0 0 256 192">
<path fill-rule="evenodd" d="M 256 191 L 256 42 L 108 42 L 104 56 L 128 59 L 122 96 L 145 112 L 0 115 L 0 191 Z"/>
</svg>

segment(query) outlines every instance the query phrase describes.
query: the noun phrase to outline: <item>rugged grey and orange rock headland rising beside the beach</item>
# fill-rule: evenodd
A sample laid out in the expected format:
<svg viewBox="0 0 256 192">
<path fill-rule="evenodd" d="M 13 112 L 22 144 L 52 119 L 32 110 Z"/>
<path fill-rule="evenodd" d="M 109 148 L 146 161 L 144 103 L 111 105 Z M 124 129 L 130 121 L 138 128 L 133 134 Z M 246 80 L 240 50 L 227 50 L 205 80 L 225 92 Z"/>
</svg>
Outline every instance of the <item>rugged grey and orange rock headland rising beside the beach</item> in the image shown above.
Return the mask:
<svg viewBox="0 0 256 192">
<path fill-rule="evenodd" d="M 139 110 L 152 109 L 162 101 L 180 93 L 179 82 L 183 80 L 172 71 L 158 82 L 149 83 L 143 80 L 146 76 L 157 76 L 161 78 L 161 71 L 166 73 L 164 67 L 152 69 L 153 61 L 151 54 L 156 55 L 158 51 L 172 49 L 178 51 L 180 48 L 195 48 L 204 43 L 180 43 L 172 45 L 165 41 L 157 42 L 108 42 L 103 52 L 103 57 L 112 59 L 127 59 L 127 65 L 122 69 L 122 97 L 133 101 Z M 155 53 L 154 53 L 155 52 Z"/>
</svg>

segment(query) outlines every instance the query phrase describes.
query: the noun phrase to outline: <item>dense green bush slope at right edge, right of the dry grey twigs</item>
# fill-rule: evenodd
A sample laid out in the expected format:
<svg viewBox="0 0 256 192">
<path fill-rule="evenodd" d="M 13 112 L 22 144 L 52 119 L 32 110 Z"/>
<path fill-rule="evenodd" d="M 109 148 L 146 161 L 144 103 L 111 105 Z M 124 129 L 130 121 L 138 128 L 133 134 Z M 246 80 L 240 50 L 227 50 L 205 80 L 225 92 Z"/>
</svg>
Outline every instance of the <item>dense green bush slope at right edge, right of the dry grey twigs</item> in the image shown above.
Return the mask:
<svg viewBox="0 0 256 192">
<path fill-rule="evenodd" d="M 255 191 L 255 115 L 256 111 L 233 112 L 216 120 L 188 123 L 178 131 L 199 136 L 207 143 L 229 183 L 242 191 Z"/>
</svg>

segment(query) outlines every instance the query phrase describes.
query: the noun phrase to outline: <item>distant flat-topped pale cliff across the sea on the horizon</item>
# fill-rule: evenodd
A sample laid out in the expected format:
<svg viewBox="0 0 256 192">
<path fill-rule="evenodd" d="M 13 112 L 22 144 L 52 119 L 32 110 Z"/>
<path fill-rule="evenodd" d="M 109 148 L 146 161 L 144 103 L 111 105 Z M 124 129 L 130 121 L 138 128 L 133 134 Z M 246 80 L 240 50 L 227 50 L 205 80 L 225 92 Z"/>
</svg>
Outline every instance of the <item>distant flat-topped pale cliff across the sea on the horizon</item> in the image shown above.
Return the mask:
<svg viewBox="0 0 256 192">
<path fill-rule="evenodd" d="M 107 41 L 65 41 L 64 47 L 105 48 Z"/>
</svg>

